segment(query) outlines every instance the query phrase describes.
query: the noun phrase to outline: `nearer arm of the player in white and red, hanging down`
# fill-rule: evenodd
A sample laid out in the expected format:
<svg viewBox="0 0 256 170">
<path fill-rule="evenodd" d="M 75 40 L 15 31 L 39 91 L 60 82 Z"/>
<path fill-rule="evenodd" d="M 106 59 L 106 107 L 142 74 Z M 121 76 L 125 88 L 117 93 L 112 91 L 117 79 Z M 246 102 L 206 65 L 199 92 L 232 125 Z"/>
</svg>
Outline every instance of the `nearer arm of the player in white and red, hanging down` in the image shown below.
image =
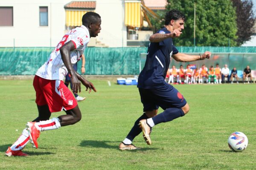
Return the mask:
<svg viewBox="0 0 256 170">
<path fill-rule="evenodd" d="M 60 48 L 60 52 L 61 52 L 61 59 L 64 65 L 66 66 L 67 71 L 70 74 L 70 79 L 73 84 L 72 91 L 75 94 L 77 94 L 78 91 L 79 93 L 81 92 L 81 82 L 76 76 L 76 71 L 74 70 L 73 65 L 71 63 L 71 59 L 70 59 L 70 51 L 73 51 L 74 49 L 76 49 L 75 45 L 73 44 L 72 41 L 69 41 Z"/>
</svg>

